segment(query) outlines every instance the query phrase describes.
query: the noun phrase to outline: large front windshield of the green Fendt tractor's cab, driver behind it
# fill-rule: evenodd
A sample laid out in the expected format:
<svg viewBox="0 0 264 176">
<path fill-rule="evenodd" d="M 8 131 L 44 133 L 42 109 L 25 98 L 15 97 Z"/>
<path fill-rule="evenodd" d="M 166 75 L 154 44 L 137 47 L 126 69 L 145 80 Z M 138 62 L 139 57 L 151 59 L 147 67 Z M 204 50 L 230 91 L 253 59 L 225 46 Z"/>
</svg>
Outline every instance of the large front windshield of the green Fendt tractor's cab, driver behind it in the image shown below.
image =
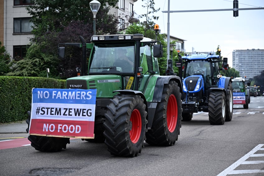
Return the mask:
<svg viewBox="0 0 264 176">
<path fill-rule="evenodd" d="M 94 45 L 89 73 L 134 73 L 134 43 Z"/>
</svg>

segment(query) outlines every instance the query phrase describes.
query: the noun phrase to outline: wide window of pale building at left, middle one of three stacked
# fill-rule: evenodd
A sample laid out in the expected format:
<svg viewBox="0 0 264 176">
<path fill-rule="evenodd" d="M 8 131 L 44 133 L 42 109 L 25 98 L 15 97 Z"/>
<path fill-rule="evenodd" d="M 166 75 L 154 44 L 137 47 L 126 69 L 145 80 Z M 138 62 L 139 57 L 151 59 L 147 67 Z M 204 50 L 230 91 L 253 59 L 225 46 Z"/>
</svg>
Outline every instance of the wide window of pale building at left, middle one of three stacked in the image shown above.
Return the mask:
<svg viewBox="0 0 264 176">
<path fill-rule="evenodd" d="M 34 24 L 30 22 L 29 18 L 14 18 L 14 33 L 31 32 Z"/>
</svg>

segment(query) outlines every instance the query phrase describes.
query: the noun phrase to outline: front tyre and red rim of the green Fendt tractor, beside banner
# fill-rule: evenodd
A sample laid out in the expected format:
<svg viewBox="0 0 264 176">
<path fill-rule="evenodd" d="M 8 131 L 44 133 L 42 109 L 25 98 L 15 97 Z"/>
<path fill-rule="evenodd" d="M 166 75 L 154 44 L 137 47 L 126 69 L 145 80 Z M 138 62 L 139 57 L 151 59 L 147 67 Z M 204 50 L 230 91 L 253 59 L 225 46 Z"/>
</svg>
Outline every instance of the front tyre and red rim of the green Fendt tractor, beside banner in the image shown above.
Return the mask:
<svg viewBox="0 0 264 176">
<path fill-rule="evenodd" d="M 107 150 L 116 156 L 138 156 L 144 147 L 146 105 L 139 95 L 118 94 L 110 100 L 105 114 Z"/>
</svg>

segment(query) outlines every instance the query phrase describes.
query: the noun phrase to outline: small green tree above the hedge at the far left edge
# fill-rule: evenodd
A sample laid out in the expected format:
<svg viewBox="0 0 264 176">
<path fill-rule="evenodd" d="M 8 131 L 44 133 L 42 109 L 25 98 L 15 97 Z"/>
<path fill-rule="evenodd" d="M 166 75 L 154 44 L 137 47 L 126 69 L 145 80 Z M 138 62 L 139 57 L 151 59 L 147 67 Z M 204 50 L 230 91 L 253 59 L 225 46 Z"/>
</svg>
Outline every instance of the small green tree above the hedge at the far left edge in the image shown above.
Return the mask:
<svg viewBox="0 0 264 176">
<path fill-rule="evenodd" d="M 6 75 L 10 69 L 9 69 L 9 63 L 11 61 L 9 53 L 7 53 L 4 46 L 1 46 L 0 41 L 0 76 Z"/>
</svg>

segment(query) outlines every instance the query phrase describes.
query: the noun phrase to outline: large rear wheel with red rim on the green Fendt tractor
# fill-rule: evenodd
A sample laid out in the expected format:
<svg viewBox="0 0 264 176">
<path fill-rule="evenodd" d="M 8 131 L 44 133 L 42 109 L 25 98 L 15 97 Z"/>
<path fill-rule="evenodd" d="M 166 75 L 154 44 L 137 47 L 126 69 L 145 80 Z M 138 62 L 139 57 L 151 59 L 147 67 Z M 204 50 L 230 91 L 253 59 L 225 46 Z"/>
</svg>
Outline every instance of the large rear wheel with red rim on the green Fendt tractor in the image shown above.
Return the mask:
<svg viewBox="0 0 264 176">
<path fill-rule="evenodd" d="M 174 145 L 181 128 L 182 100 L 178 84 L 164 85 L 161 102 L 158 102 L 151 130 L 146 133 L 150 145 Z"/>
</svg>

